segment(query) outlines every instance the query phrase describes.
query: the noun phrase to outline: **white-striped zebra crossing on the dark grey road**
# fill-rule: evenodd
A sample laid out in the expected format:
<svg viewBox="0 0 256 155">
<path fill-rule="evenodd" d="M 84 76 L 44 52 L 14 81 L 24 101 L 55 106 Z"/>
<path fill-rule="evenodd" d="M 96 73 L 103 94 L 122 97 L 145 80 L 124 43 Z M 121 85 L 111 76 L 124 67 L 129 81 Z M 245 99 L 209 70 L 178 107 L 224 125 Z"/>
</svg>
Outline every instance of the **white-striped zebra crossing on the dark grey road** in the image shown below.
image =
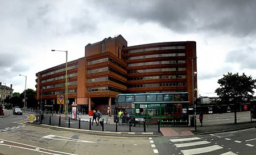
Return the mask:
<svg viewBox="0 0 256 155">
<path fill-rule="evenodd" d="M 216 153 L 217 150 L 223 150 L 223 147 L 217 145 L 217 143 L 211 143 L 212 141 L 203 140 L 200 137 L 189 137 L 181 139 L 170 139 L 173 146 L 180 149 L 180 152 L 184 155 L 192 154 L 201 154 L 201 153 L 211 153 L 211 154 L 220 154 Z M 224 151 L 224 150 L 223 150 Z M 236 154 L 231 151 L 223 152 L 224 155 Z"/>
</svg>

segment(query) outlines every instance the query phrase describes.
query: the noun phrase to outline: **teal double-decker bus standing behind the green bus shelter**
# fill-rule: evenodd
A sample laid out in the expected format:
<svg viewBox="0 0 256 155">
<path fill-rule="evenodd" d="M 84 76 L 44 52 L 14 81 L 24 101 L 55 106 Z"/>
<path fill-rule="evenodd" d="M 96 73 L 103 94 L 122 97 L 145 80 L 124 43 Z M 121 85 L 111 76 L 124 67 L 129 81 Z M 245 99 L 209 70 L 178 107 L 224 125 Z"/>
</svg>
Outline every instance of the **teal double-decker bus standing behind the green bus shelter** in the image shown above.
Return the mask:
<svg viewBox="0 0 256 155">
<path fill-rule="evenodd" d="M 161 126 L 169 124 L 188 125 L 188 93 L 134 93 L 118 94 L 115 98 L 115 118 L 120 110 L 127 111 L 132 123 L 142 123 Z M 115 119 L 116 120 L 116 119 Z"/>
</svg>

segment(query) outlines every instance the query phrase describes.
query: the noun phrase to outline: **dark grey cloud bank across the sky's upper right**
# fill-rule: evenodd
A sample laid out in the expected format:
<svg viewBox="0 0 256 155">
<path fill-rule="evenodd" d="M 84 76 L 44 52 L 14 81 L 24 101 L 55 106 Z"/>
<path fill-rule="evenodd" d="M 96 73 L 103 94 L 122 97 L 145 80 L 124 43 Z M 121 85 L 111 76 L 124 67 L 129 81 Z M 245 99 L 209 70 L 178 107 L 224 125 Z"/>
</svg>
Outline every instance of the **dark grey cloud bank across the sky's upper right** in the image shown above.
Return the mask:
<svg viewBox="0 0 256 155">
<path fill-rule="evenodd" d="M 95 4 L 122 20 L 157 22 L 179 33 L 255 35 L 256 1 L 100 1 Z"/>
</svg>

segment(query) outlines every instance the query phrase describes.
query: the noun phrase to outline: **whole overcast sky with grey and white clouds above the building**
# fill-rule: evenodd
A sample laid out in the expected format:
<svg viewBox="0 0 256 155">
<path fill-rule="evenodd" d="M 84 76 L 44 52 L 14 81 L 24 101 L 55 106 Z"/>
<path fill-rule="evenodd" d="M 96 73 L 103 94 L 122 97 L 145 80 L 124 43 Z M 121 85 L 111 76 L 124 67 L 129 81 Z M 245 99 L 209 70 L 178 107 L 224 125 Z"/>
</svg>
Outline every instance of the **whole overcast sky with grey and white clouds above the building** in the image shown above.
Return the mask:
<svg viewBox="0 0 256 155">
<path fill-rule="evenodd" d="M 84 47 L 122 35 L 128 46 L 196 41 L 198 89 L 217 96 L 228 72 L 256 78 L 256 1 L 0 0 L 0 81 L 36 89 L 36 72 L 84 57 Z"/>
</svg>

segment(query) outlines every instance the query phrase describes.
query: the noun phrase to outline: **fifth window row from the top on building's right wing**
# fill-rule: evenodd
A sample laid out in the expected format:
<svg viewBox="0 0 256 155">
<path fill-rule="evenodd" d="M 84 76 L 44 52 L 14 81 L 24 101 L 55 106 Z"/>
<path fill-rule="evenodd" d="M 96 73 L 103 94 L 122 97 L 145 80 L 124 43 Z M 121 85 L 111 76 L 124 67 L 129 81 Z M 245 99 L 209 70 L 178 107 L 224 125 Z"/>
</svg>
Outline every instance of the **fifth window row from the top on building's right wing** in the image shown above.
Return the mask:
<svg viewBox="0 0 256 155">
<path fill-rule="evenodd" d="M 133 77 L 128 78 L 128 81 L 132 80 L 151 80 L 151 79 L 185 79 L 185 75 L 162 75 L 162 76 L 146 76 L 146 77 Z"/>
</svg>

